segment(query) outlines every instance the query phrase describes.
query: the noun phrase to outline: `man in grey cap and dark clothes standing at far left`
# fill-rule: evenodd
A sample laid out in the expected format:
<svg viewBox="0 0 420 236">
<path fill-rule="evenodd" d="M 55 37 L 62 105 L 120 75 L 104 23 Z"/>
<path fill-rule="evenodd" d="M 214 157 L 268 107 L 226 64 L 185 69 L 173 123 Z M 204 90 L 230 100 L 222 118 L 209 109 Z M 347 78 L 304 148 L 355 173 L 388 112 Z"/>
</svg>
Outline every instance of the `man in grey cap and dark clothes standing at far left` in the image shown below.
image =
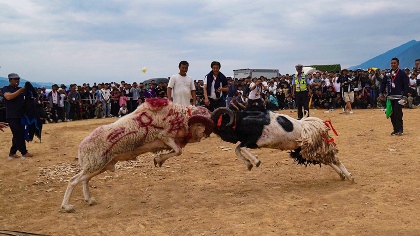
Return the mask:
<svg viewBox="0 0 420 236">
<path fill-rule="evenodd" d="M 3 94 L 6 99 L 6 119 L 13 134 L 8 159 L 19 158 L 16 154 L 17 151 L 22 154 L 22 159 L 25 159 L 33 156 L 26 150 L 25 130 L 21 122 L 21 119 L 25 117 L 25 96 L 23 95 L 25 87 L 18 87 L 20 77 L 17 74 L 12 73 L 8 77 L 10 84 L 3 87 Z"/>
</svg>

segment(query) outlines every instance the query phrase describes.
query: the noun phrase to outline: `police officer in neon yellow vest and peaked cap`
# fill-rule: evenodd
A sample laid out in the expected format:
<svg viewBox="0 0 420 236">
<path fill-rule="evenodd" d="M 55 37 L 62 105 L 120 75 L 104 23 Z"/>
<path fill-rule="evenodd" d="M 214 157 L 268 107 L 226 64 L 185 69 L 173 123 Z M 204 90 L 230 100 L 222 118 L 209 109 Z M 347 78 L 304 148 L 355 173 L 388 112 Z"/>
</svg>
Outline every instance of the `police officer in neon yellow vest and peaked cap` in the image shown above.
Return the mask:
<svg viewBox="0 0 420 236">
<path fill-rule="evenodd" d="M 292 80 L 293 85 L 293 98 L 297 106 L 297 119 L 303 118 L 303 110 L 308 111 L 309 117 L 309 97 L 312 95 L 310 81 L 306 74 L 302 73 L 303 66 L 297 64 L 295 66 L 297 74 L 294 75 Z"/>
</svg>

